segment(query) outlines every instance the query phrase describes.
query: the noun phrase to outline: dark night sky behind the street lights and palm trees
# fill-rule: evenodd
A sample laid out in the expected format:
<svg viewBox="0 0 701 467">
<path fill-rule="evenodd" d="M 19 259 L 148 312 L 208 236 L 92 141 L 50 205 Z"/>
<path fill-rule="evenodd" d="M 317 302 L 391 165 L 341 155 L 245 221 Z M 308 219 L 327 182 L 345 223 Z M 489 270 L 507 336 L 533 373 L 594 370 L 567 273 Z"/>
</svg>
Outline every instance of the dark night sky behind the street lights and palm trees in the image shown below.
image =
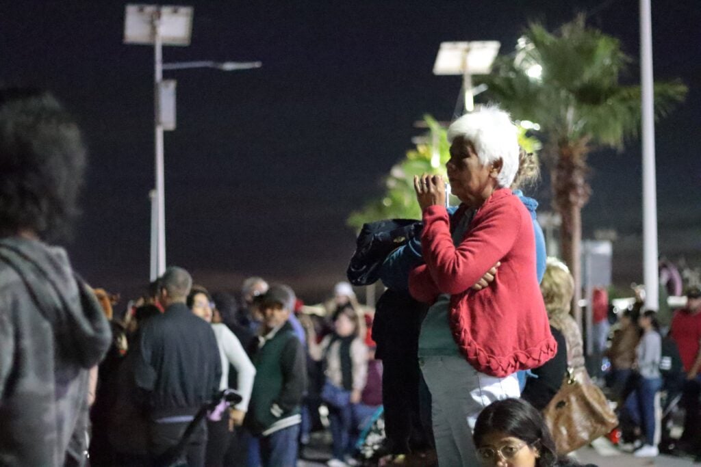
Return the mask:
<svg viewBox="0 0 701 467">
<path fill-rule="evenodd" d="M 307 301 L 344 277 L 346 217 L 383 192 L 425 113 L 453 117 L 458 76 L 433 76 L 442 41 L 498 40 L 529 20 L 554 29 L 578 12 L 614 34 L 639 82 L 639 4 L 617 1 L 191 1 L 191 45 L 164 62 L 236 60 L 261 69 L 165 71 L 177 130 L 165 133 L 168 264 L 212 289 L 285 281 Z M 0 83 L 55 93 L 83 127 L 90 167 L 67 244 L 95 286 L 133 295 L 149 279 L 154 186 L 153 48 L 124 45 L 120 1 L 0 1 Z M 701 5 L 653 1 L 655 79 L 681 78 L 686 103 L 656 127 L 660 254 L 701 263 Z M 585 238 L 615 228 L 614 279 L 640 280 L 641 162 L 590 156 Z M 531 193 L 550 204 L 547 176 Z"/>
</svg>

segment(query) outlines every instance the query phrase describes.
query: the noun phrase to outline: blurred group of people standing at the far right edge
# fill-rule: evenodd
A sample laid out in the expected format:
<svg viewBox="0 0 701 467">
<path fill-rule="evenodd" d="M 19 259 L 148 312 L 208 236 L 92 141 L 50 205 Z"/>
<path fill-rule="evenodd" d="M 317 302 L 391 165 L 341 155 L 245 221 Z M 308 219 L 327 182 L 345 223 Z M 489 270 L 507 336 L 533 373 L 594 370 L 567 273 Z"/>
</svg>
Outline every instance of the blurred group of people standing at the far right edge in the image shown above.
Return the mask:
<svg viewBox="0 0 701 467">
<path fill-rule="evenodd" d="M 620 312 L 604 351 L 611 365 L 606 386 L 620 406 L 622 448 L 639 456 L 658 455 L 661 442 L 667 450 L 701 456 L 701 431 L 694 421 L 701 395 L 701 288 L 690 287 L 685 295 L 686 306 L 669 315 L 667 326 L 638 296 Z M 674 405 L 686 413 L 679 439 L 660 429 L 660 413 L 671 413 Z"/>
</svg>

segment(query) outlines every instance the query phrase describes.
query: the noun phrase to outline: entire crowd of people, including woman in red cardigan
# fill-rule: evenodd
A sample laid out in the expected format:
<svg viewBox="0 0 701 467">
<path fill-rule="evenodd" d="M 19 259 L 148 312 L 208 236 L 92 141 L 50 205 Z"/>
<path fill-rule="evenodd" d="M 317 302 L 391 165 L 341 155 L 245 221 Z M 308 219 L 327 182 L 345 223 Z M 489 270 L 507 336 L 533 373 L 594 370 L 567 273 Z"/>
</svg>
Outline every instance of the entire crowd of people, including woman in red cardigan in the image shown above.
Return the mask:
<svg viewBox="0 0 701 467">
<path fill-rule="evenodd" d="M 448 139 L 460 206 L 416 176 L 421 220 L 358 238 L 348 279 L 381 281 L 375 309 L 347 282 L 305 307 L 285 284 L 210 293 L 169 267 L 118 313 L 49 245 L 76 211 L 79 128 L 46 92 L 0 90 L 0 464 L 290 467 L 327 422 L 330 467 L 579 465 L 547 418 L 564 380 L 591 379 L 573 278 L 520 190 L 537 165 L 494 107 Z M 686 295 L 669 333 L 624 312 L 606 351 L 638 456 L 658 454 L 662 388 L 684 395 L 681 444 L 700 444 L 701 291 Z"/>
</svg>

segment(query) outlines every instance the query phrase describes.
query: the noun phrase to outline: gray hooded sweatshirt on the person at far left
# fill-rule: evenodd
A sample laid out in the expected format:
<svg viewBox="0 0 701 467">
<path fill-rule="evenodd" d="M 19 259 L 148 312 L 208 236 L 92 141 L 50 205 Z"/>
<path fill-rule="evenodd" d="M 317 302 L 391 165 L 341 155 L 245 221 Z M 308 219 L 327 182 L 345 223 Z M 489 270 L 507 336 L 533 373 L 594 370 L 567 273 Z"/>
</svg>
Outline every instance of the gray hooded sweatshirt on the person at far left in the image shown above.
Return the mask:
<svg viewBox="0 0 701 467">
<path fill-rule="evenodd" d="M 0 239 L 0 465 L 80 459 L 88 373 L 110 342 L 100 304 L 63 249 Z"/>
</svg>

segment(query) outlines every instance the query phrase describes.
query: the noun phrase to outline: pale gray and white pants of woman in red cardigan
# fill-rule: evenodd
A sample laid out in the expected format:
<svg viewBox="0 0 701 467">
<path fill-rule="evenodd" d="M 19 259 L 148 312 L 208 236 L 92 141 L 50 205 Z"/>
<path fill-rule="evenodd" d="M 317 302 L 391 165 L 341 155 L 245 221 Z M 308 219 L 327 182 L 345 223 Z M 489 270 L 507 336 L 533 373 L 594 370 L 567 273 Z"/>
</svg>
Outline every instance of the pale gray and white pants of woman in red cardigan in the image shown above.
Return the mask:
<svg viewBox="0 0 701 467">
<path fill-rule="evenodd" d="M 462 356 L 419 359 L 431 393 L 433 438 L 440 467 L 478 467 L 472 428 L 479 412 L 495 400 L 521 396 L 516 375 L 480 373 Z"/>
</svg>

